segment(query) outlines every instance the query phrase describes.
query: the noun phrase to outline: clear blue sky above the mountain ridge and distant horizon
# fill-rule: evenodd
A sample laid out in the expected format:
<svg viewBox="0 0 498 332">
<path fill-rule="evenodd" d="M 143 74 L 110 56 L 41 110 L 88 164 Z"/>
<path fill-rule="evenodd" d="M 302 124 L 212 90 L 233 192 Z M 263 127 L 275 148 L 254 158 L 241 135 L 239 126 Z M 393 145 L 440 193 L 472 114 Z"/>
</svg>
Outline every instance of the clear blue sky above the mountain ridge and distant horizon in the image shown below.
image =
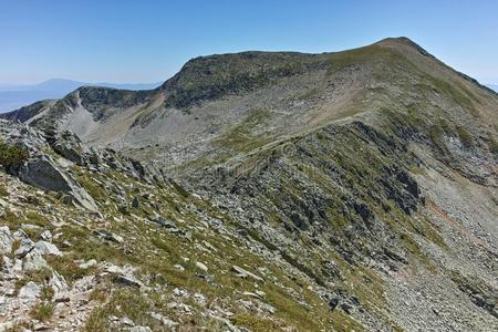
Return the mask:
<svg viewBox="0 0 498 332">
<path fill-rule="evenodd" d="M 492 0 L 0 0 L 0 83 L 155 82 L 198 55 L 339 51 L 398 35 L 498 82 Z"/>
</svg>

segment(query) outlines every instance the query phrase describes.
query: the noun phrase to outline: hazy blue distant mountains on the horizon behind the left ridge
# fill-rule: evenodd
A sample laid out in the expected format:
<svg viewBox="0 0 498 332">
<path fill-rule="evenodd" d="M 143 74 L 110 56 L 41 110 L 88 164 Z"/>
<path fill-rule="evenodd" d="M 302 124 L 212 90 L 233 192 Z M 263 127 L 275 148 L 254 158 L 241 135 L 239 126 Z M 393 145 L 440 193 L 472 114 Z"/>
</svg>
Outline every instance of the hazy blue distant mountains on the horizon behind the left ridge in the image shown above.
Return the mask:
<svg viewBox="0 0 498 332">
<path fill-rule="evenodd" d="M 151 90 L 160 82 L 149 84 L 85 83 L 52 79 L 31 85 L 0 85 L 0 112 L 13 111 L 41 100 L 61 98 L 80 86 L 105 86 L 123 90 Z"/>
</svg>

